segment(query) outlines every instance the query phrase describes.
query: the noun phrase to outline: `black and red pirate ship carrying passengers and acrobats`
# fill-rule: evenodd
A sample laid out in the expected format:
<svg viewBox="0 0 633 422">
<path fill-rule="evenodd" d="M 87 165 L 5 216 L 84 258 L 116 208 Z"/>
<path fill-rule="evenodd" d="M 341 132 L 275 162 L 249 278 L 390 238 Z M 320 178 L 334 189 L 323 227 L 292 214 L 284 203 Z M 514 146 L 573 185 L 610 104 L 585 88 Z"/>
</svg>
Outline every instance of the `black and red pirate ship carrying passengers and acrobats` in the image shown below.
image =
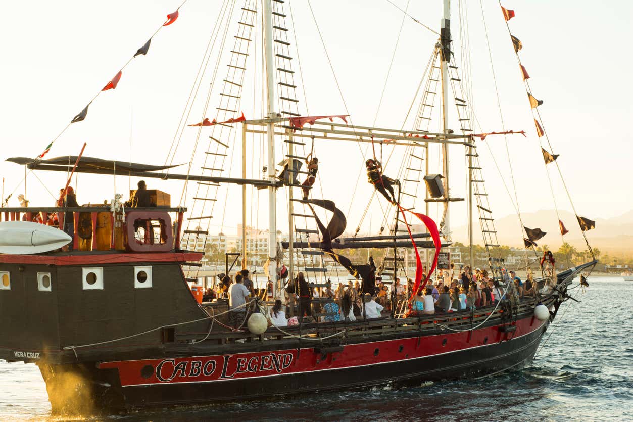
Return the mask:
<svg viewBox="0 0 633 422">
<path fill-rule="evenodd" d="M 195 193 L 189 208 L 172 207 L 158 199 L 158 194 L 151 207 L 126 208 L 118 198 L 108 205 L 91 207 L 4 207 L 4 222 L 0 223 L 0 315 L 4 322 L 0 358 L 35 362 L 46 381 L 54 412 L 201 404 L 386 383 L 419 385 L 426 380 L 485 376 L 529 363 L 560 305 L 570 298 L 568 286 L 578 274 L 591 269 L 596 260 L 558 273 L 542 272 L 543 278 L 537 282 L 542 284 L 549 278 L 552 290 L 535 298 L 516 300 L 513 285 L 505 276 L 505 262 L 497 253 L 499 245 L 489 203 L 492 195 L 484 186 L 477 149 L 480 139 L 496 132 L 475 134 L 471 124 L 472 105 L 451 47 L 449 0 L 443 2 L 439 39 L 423 72 L 423 83 L 414 100 L 417 114 L 408 130 L 404 126 L 389 129 L 354 125 L 348 115 L 299 113 L 291 31 L 286 21 L 291 12 L 289 4 L 284 0 L 246 0 L 237 13 L 231 5 L 223 3 L 218 27 L 213 32 L 216 37 L 220 34 L 221 40 L 210 43 L 230 51 L 225 51 L 229 56 L 226 75 L 220 76 L 217 68 L 213 71 L 214 80 L 221 81 L 220 91 L 215 92 L 220 99 L 216 116 L 212 120 L 206 117 L 214 110 L 208 107 L 207 99 L 201 122 L 185 122 L 196 129 L 186 129 L 185 124 L 182 130 L 179 127 L 181 135 L 185 131 L 197 132 L 192 157 L 201 161 L 200 172 L 194 171 L 197 164 L 192 160 L 186 174 L 174 173 L 173 157 L 163 166 L 82 154 L 45 158 L 59 136 L 35 159 L 9 159 L 32 171 L 70 172 L 71 176 L 118 173 L 156 181 L 180 180 L 185 190 L 191 185 Z M 499 18 L 506 22 L 514 15 L 504 8 L 501 12 Z M 408 15 L 406 11 L 404 15 Z M 179 10 L 170 13 L 159 30 L 176 23 L 178 16 Z M 263 118 L 247 120 L 239 110 L 246 93 L 244 75 L 251 64 L 248 57 L 256 50 L 253 44 L 258 16 L 263 34 L 266 110 Z M 236 30 L 232 40 L 222 37 L 229 25 Z M 152 38 L 134 57 L 148 54 L 151 41 Z M 518 53 L 521 43 L 509 35 L 508 46 L 511 45 Z M 130 60 L 125 66 L 133 62 Z M 116 88 L 124 68 L 101 92 Z M 530 92 L 527 72 L 522 65 L 520 68 Z M 537 137 L 549 143 L 538 115 L 539 101 L 532 94 L 528 98 L 535 113 Z M 87 118 L 89 105 L 71 124 Z M 439 132 L 429 131 L 434 105 L 441 110 Z M 456 129 L 451 129 L 449 122 L 451 105 L 457 110 Z M 499 132 L 503 136 L 512 133 L 505 129 Z M 227 157 L 234 155 L 235 143 L 230 140 L 236 135 L 242 140 L 242 177 L 220 177 Z M 265 141 L 265 149 L 260 152 L 267 165 L 261 179 L 246 177 L 247 151 L 254 148 L 248 142 L 255 136 Z M 202 139 L 208 142 L 203 143 Z M 301 175 L 310 176 L 301 170 L 301 162 L 308 161 L 308 151 L 316 156 L 319 146 L 344 142 L 371 148 L 372 154 L 362 161 L 370 158 L 380 169 L 379 177 L 373 180 L 376 190 L 371 197 L 386 205 L 384 219 L 391 222 L 385 224 L 389 226 L 386 231 L 383 228 L 378 234 L 359 236 L 356 229 L 356 234 L 344 236 L 346 215 L 334 202 L 316 195 L 314 184 L 300 184 Z M 203 151 L 199 151 L 200 147 Z M 441 171 L 437 174 L 429 164 L 434 147 L 441 153 Z M 457 151 L 458 147 L 465 151 L 468 167 L 466 198 L 451 196 L 453 191 L 449 189 L 449 151 Z M 392 179 L 399 180 L 391 186 L 392 196 L 386 193 L 381 177 L 382 172 L 396 170 L 396 166 L 388 167 L 389 158 L 382 157 L 383 148 L 399 151 L 402 157 L 398 175 Z M 278 166 L 279 151 L 284 161 Z M 546 165 L 557 165 L 556 155 L 545 148 L 542 152 Z M 185 271 L 195 271 L 202 254 L 182 250 L 180 245 L 183 237 L 208 234 L 211 217 L 214 212 L 217 214 L 214 207 L 220 188 L 234 185 L 242 188 L 244 231 L 247 192 L 253 188 L 268 191 L 272 298 L 284 297 L 285 281 L 279 268 L 285 263 L 291 283 L 301 271 L 313 286 L 327 286 L 330 280 L 323 269 L 325 265 L 319 265 L 327 257 L 361 279 L 363 292 L 373 293 L 376 272 L 395 276 L 404 271 L 403 248 L 410 248 L 417 257 L 411 277 L 414 290 L 418 290 L 434 273 L 441 248 L 451 244 L 449 211 L 451 205 L 460 201 L 465 202 L 470 221 L 468 260 L 473 260 L 473 230 L 478 221 L 489 269 L 495 283 L 506 293 L 494 306 L 444 315 L 411 316 L 406 311 L 408 300 L 397 304 L 393 295 L 391 316 L 380 319 L 301 321 L 283 329 L 257 324 L 232 328 L 226 324 L 225 304 L 203 306 L 191 294 Z M 308 191 L 308 198 L 295 197 L 298 189 Z M 291 234 L 287 241 L 277 235 L 282 209 L 277 196 L 282 190 L 287 194 L 284 205 Z M 375 195 L 377 191 L 391 204 Z M 416 206 L 418 197 L 423 197 L 424 212 Z M 437 219 L 429 217 L 431 204 L 441 207 Z M 68 227 L 69 219 L 73 223 L 73 252 L 58 249 L 60 243 L 68 241 L 61 234 L 49 234 L 49 240 L 36 241 L 39 237 L 33 233 L 39 229 L 33 228 L 33 221 L 61 231 Z M 412 219 L 419 219 L 426 229 L 412 231 Z M 592 222 L 584 217 L 578 219 L 585 234 Z M 564 234 L 562 222 L 560 226 Z M 24 234 L 28 230 L 33 234 L 30 239 Z M 44 229 L 40 232 L 44 233 Z M 525 228 L 526 253 L 534 250 L 535 242 L 542 236 L 540 229 Z M 242 245 L 246 255 L 246 242 Z M 351 248 L 382 248 L 389 253 L 376 268 L 351 262 L 346 257 Z M 428 248 L 432 253 L 423 259 L 418 248 Z M 328 298 L 312 300 L 331 302 Z M 265 304 L 257 301 L 248 306 Z"/>
</svg>

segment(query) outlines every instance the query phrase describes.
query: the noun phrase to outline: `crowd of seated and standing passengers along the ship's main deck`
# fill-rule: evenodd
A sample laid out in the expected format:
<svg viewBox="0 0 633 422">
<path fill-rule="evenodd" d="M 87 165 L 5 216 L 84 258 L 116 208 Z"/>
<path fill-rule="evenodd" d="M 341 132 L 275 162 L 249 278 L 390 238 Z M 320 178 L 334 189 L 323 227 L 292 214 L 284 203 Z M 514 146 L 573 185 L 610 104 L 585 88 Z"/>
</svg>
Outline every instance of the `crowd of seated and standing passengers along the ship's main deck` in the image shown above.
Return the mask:
<svg viewBox="0 0 633 422">
<path fill-rule="evenodd" d="M 220 283 L 214 294 L 216 297 L 229 299 L 230 322 L 237 327 L 246 319 L 246 309 L 241 307 L 250 297 L 256 295 L 253 281 L 249 279 L 248 270 L 232 279 L 220 274 Z M 513 283 L 513 289 L 508 292 L 518 300 L 529 300 L 537 295 L 547 294 L 552 290 L 551 281 L 547 281 L 537 290 L 531 271 L 528 271 L 525 281 L 518 278 L 514 271 L 503 274 L 508 283 Z M 292 326 L 299 323 L 362 321 L 390 316 L 392 314 L 391 289 L 395 291 L 396 309 L 394 314 L 399 316 L 441 315 L 451 312 L 470 312 L 484 307 L 494 307 L 505 295 L 506 287 L 489 277 L 486 270 L 479 268 L 471 272 L 470 267 L 462 267 L 458 274 L 454 271 L 454 264 L 448 270 L 437 271 L 436 278 L 427 283 L 424 288 L 413 292 L 413 283 L 408 279 L 401 283 L 397 278 L 391 289 L 389 283 L 383 283 L 377 278 L 375 291 L 362 294 L 358 280 L 339 283 L 335 288 L 310 286 L 303 272 L 299 272 L 296 283 L 288 283 L 285 288 L 287 300 L 276 300 L 269 310 L 270 322 L 275 326 Z M 207 294 L 211 294 L 210 291 Z M 263 292 L 265 295 L 265 291 Z M 325 299 L 325 300 L 323 300 Z M 293 313 L 289 317 L 289 306 L 294 304 Z"/>
</svg>

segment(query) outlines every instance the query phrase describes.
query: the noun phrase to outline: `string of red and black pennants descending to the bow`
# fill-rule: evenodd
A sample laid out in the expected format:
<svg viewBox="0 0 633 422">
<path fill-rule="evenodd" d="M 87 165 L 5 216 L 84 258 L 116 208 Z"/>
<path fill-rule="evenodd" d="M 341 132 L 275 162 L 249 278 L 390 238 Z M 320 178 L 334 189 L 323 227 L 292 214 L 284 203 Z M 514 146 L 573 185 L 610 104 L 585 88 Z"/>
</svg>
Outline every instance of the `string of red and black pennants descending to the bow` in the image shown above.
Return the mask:
<svg viewBox="0 0 633 422">
<path fill-rule="evenodd" d="M 501 4 L 499 4 L 499 6 L 501 6 Z M 506 25 L 507 25 L 507 22 L 511 18 L 515 17 L 514 10 L 506 9 L 503 6 L 501 6 L 501 13 L 503 13 L 503 18 L 506 21 Z M 508 32 L 510 32 L 509 25 L 508 25 Z M 521 42 L 520 39 L 518 39 L 517 37 L 515 37 L 515 35 L 512 35 L 511 33 L 510 33 L 510 40 L 512 41 L 512 46 L 515 50 L 515 53 L 517 54 L 518 65 L 521 68 L 521 75 L 523 78 L 523 82 L 525 83 L 526 89 L 528 89 L 527 98 L 530 103 L 530 108 L 532 108 L 532 114 L 534 115 L 534 112 L 535 112 L 534 109 L 542 105 L 543 101 L 542 99 L 537 99 L 536 97 L 534 97 L 532 93 L 530 93 L 529 91 L 529 83 L 527 82 L 527 80 L 530 79 L 530 75 L 527 73 L 527 69 L 525 68 L 525 66 L 523 66 L 518 56 L 518 52 L 523 48 L 523 43 Z M 536 112 L 536 115 L 534 115 L 534 127 L 536 127 L 537 137 L 541 138 L 545 136 L 545 131 L 543 130 L 541 122 L 539 122 L 540 117 L 537 119 L 537 115 L 538 115 L 538 112 Z M 484 139 L 484 137 L 482 137 L 482 139 Z M 541 146 L 541 152 L 543 155 L 543 160 L 545 162 L 545 165 L 555 162 L 556 158 L 559 157 L 559 154 L 550 153 L 548 150 L 546 150 L 542 146 Z M 570 200 L 571 200 L 571 197 L 570 197 Z M 583 232 L 587 230 L 591 230 L 594 227 L 596 227 L 596 222 L 589 220 L 586 217 L 580 217 L 580 215 L 576 215 L 576 219 L 578 220 L 580 230 L 582 230 Z M 563 221 L 561 221 L 560 219 L 558 220 L 558 227 L 560 228 L 561 236 L 564 236 L 565 234 L 569 233 L 568 229 L 565 227 L 565 224 L 563 224 Z M 527 237 L 523 238 L 523 243 L 525 243 L 526 248 L 529 248 L 531 246 L 536 246 L 536 241 L 542 238 L 543 236 L 545 236 L 546 234 L 545 232 L 541 231 L 541 229 L 538 229 L 538 228 L 537 229 L 529 229 L 527 227 L 523 227 L 523 228 L 525 229 L 525 233 L 527 234 Z M 589 245 L 589 243 L 587 243 L 587 245 Z M 589 249 L 591 250 L 591 246 L 589 246 Z"/>
</svg>

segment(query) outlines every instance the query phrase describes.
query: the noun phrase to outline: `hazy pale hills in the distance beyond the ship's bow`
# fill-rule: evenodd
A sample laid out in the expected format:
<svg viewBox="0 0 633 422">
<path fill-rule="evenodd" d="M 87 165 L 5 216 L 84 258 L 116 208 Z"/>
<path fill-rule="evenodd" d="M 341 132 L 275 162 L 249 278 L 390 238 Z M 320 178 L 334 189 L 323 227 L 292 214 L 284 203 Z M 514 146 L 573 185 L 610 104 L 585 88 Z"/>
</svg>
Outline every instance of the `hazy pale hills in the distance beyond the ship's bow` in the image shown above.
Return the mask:
<svg viewBox="0 0 633 422">
<path fill-rule="evenodd" d="M 537 243 L 548 245 L 556 249 L 561 245 L 561 236 L 558 229 L 558 218 L 555 210 L 541 210 L 538 212 L 526 212 L 521 214 L 523 224 L 530 228 L 539 227 L 547 234 Z M 586 217 L 591 218 L 591 215 Z M 565 234 L 565 241 L 581 250 L 586 249 L 585 241 L 578 227 L 575 215 L 561 211 L 560 219 L 570 233 Z M 523 246 L 520 233 L 520 223 L 516 215 L 508 215 L 494 221 L 497 235 L 501 245 Z M 477 227 L 478 228 L 478 227 Z M 475 243 L 482 243 L 481 234 L 475 228 Z M 610 219 L 596 219 L 596 228 L 587 232 L 589 243 L 604 253 L 633 253 L 633 210 Z M 454 227 L 453 240 L 467 243 L 467 227 Z"/>
</svg>

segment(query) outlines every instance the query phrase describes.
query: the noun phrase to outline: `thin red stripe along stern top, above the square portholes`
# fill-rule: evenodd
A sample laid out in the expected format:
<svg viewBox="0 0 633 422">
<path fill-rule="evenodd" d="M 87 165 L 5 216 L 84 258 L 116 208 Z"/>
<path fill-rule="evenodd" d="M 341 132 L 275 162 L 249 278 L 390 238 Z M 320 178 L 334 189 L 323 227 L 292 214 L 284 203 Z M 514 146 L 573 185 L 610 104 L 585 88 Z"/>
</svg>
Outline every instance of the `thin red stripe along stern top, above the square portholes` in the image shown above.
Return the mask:
<svg viewBox="0 0 633 422">
<path fill-rule="evenodd" d="M 3 255 L 0 262 L 4 264 L 34 265 L 96 265 L 96 264 L 133 264 L 135 262 L 187 262 L 199 261 L 202 253 L 198 252 L 163 252 L 163 253 L 94 253 L 89 255 Z"/>
</svg>

